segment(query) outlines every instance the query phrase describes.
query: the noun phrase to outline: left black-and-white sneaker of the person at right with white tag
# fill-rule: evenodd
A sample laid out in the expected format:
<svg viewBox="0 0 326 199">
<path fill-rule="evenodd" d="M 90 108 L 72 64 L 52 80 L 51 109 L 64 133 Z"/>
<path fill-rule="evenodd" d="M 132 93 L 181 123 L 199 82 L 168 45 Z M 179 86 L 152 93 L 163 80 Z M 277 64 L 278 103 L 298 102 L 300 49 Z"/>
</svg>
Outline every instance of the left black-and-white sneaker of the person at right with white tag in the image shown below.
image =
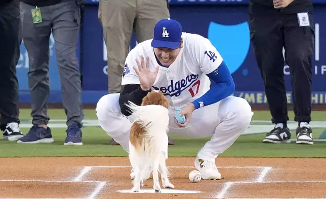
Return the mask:
<svg viewBox="0 0 326 199">
<path fill-rule="evenodd" d="M 283 143 L 291 139 L 291 132 L 288 127 L 275 127 L 271 130 L 266 138 L 263 140 L 263 143 Z"/>
</svg>

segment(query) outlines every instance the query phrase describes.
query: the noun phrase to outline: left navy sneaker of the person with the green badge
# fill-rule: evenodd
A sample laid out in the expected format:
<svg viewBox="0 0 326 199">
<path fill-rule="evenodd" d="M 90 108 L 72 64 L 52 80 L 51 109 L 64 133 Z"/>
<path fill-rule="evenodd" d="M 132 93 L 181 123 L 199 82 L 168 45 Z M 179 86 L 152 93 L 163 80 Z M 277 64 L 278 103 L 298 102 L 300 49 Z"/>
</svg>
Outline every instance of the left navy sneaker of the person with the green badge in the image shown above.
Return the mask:
<svg viewBox="0 0 326 199">
<path fill-rule="evenodd" d="M 54 142 L 51 129 L 45 129 L 44 127 L 39 127 L 38 125 L 33 125 L 28 133 L 19 138 L 17 144 L 37 144 L 37 143 L 52 143 Z"/>
</svg>

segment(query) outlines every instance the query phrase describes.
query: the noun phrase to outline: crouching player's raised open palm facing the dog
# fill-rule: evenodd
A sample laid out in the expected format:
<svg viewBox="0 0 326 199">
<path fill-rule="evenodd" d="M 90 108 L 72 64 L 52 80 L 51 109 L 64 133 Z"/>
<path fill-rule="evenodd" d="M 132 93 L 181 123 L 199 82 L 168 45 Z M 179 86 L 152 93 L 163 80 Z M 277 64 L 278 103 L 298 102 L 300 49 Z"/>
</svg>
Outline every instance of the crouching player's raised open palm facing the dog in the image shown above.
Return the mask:
<svg viewBox="0 0 326 199">
<path fill-rule="evenodd" d="M 155 68 L 154 72 L 149 69 L 149 57 L 146 56 L 146 63 L 144 62 L 144 56 L 140 57 L 140 62 L 136 59 L 137 67 L 133 67 L 138 75 L 140 85 L 142 89 L 149 90 L 155 82 L 159 66 Z"/>
</svg>

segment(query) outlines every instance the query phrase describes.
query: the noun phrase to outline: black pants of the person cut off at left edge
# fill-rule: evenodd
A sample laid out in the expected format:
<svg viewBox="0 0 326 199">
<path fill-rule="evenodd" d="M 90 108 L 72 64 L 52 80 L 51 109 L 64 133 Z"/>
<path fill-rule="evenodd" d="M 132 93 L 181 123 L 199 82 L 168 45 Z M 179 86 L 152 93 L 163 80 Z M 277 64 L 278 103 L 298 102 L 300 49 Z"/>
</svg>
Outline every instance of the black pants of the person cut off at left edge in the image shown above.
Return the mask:
<svg viewBox="0 0 326 199">
<path fill-rule="evenodd" d="M 16 65 L 20 56 L 21 22 L 19 1 L 0 7 L 0 126 L 20 123 Z"/>
</svg>

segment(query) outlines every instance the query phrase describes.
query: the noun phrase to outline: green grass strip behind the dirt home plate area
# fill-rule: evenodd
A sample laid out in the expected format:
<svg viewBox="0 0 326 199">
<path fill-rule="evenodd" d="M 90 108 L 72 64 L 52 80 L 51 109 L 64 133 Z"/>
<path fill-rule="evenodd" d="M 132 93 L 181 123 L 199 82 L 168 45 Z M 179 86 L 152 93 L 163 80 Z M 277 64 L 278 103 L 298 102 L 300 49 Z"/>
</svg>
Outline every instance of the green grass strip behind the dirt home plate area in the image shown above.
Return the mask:
<svg viewBox="0 0 326 199">
<path fill-rule="evenodd" d="M 30 110 L 21 110 L 22 123 L 29 123 Z M 293 113 L 289 113 L 293 119 Z M 51 119 L 65 119 L 63 110 L 49 110 Z M 94 110 L 85 110 L 85 119 L 96 119 Z M 312 113 L 315 121 L 326 121 L 325 112 Z M 255 111 L 253 120 L 269 120 L 267 111 Z M 51 120 L 50 120 L 51 122 Z M 252 124 L 271 124 L 255 123 Z M 22 128 L 26 134 L 28 128 Z M 323 128 L 314 128 L 313 137 L 318 138 Z M 121 146 L 108 145 L 111 140 L 100 127 L 87 126 L 83 128 L 83 146 L 64 146 L 66 137 L 64 128 L 52 128 L 55 140 L 52 144 L 16 144 L 16 142 L 0 141 L 0 157 L 30 157 L 30 156 L 127 156 Z M 326 157 L 326 143 L 315 142 L 314 145 L 263 144 L 265 134 L 240 136 L 236 142 L 220 157 Z M 198 150 L 210 139 L 192 139 L 188 137 L 171 136 L 174 146 L 169 146 L 169 156 L 196 156 Z M 295 134 L 292 134 L 295 138 Z"/>
</svg>

